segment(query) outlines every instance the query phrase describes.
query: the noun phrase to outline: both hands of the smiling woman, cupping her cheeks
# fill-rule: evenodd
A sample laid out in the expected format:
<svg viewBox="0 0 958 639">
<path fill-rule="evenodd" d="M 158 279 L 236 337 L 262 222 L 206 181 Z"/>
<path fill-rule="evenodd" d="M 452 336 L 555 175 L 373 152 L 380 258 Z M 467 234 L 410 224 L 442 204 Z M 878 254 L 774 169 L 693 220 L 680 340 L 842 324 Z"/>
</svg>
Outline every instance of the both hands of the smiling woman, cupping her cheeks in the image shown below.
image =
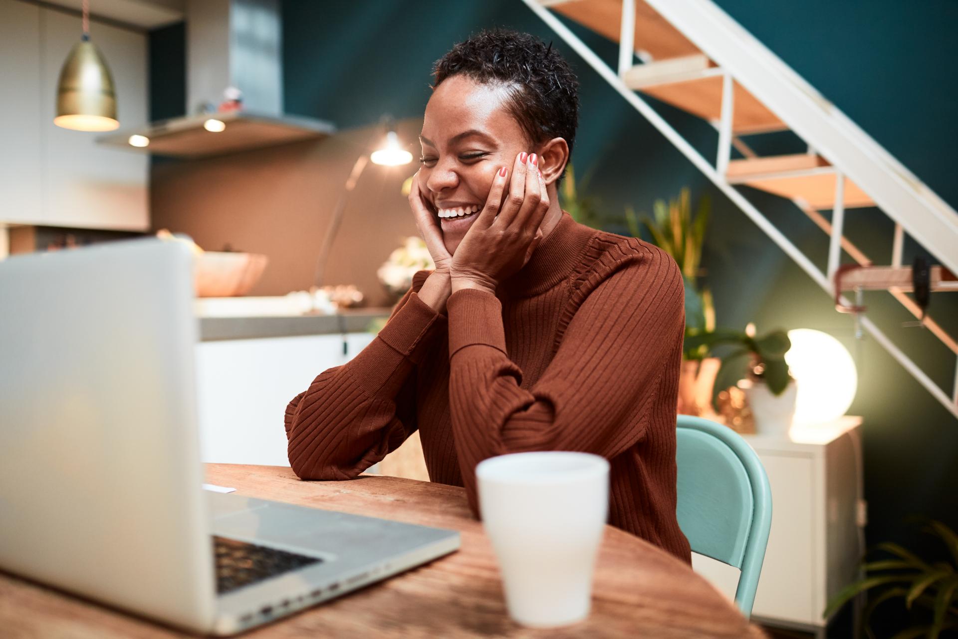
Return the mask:
<svg viewBox="0 0 958 639">
<path fill-rule="evenodd" d="M 444 312 L 449 295 L 463 288 L 494 295 L 500 282 L 529 262 L 542 240 L 539 226 L 549 211 L 549 195 L 536 163 L 535 153 L 519 153 L 511 180 L 508 167 L 496 171 L 486 204 L 475 214 L 455 255 L 445 248 L 439 218 L 423 198 L 419 175 L 413 179 L 409 204 L 436 262 L 436 270 L 419 291 L 425 304 Z"/>
</svg>

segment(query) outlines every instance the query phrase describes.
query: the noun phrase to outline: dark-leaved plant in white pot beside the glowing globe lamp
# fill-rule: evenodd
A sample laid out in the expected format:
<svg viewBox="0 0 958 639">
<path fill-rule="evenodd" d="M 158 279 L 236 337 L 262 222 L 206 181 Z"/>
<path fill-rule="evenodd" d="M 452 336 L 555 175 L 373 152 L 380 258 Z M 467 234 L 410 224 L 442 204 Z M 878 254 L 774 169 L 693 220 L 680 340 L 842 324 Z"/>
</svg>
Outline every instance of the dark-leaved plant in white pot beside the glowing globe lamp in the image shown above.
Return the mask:
<svg viewBox="0 0 958 639">
<path fill-rule="evenodd" d="M 787 435 L 795 414 L 795 380 L 788 373 L 785 354 L 791 348 L 786 331 L 772 331 L 756 337 L 754 331 L 686 330 L 686 353 L 712 354 L 719 346 L 732 348 L 719 356 L 719 371 L 712 387 L 712 405 L 719 410 L 719 393 L 748 380 L 743 389 L 762 434 Z"/>
</svg>

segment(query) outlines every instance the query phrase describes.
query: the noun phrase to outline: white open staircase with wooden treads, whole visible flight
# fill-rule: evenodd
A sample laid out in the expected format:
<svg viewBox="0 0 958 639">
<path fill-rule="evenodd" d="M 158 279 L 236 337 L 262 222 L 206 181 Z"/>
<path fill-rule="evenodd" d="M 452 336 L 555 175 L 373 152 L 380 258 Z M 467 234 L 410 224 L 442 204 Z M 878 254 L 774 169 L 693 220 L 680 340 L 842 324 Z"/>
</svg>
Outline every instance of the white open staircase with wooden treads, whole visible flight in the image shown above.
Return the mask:
<svg viewBox="0 0 958 639">
<path fill-rule="evenodd" d="M 958 342 L 905 295 L 912 268 L 901 264 L 907 233 L 941 267 L 929 268 L 933 291 L 958 290 L 958 213 L 785 62 L 711 0 L 523 0 L 620 95 L 735 202 L 929 393 L 958 418 Z M 613 71 L 553 11 L 619 42 Z M 635 58 L 642 60 L 635 64 Z M 703 118 L 719 131 L 709 162 L 637 92 Z M 758 157 L 741 135 L 791 130 L 808 153 Z M 744 159 L 732 160 L 737 148 Z M 822 271 L 736 188 L 747 185 L 791 200 L 829 234 Z M 892 264 L 876 266 L 843 235 L 847 208 L 878 207 L 895 222 Z M 820 211 L 832 211 L 831 221 Z M 842 264 L 844 250 L 855 261 Z M 862 315 L 862 291 L 887 290 L 956 356 L 946 392 Z M 855 304 L 842 293 L 855 291 Z"/>
</svg>

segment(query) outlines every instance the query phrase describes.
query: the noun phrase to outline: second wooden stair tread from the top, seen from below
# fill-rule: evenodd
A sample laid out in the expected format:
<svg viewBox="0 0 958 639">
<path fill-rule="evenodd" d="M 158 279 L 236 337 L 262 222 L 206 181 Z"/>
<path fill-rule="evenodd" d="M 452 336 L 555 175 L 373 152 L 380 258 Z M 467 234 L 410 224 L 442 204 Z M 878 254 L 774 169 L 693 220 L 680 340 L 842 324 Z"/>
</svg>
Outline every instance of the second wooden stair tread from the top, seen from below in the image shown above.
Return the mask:
<svg viewBox="0 0 958 639">
<path fill-rule="evenodd" d="M 709 122 L 721 119 L 721 75 L 711 70 L 695 78 L 644 86 L 639 90 L 656 100 L 672 104 Z M 763 131 L 785 130 L 788 127 L 778 116 L 755 99 L 739 82 L 733 82 L 735 93 L 732 130 L 744 135 Z"/>
</svg>

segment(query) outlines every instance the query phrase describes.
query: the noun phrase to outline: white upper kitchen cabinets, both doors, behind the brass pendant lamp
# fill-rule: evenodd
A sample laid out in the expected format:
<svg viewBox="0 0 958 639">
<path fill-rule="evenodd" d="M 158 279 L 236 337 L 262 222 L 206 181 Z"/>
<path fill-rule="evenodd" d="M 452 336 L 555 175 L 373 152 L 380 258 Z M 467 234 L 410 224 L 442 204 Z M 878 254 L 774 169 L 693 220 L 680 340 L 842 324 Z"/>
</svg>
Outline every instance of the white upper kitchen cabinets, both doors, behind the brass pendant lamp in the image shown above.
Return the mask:
<svg viewBox="0 0 958 639">
<path fill-rule="evenodd" d="M 148 119 L 147 35 L 93 21 L 123 126 Z M 53 124 L 57 80 L 80 40 L 80 16 L 0 0 L 0 222 L 142 231 L 149 226 L 147 155 L 96 144 L 102 133 Z"/>
</svg>

